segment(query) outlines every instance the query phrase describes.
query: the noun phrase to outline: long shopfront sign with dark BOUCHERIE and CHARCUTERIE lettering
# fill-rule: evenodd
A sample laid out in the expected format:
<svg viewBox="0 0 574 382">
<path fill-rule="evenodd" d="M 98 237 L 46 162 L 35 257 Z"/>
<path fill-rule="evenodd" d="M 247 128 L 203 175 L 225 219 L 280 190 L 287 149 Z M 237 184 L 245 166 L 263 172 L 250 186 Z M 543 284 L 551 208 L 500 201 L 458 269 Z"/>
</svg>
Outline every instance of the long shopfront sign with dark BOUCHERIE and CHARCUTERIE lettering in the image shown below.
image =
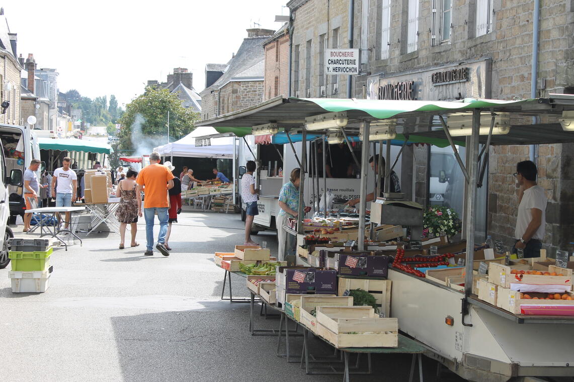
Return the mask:
<svg viewBox="0 0 574 382">
<path fill-rule="evenodd" d="M 490 76 L 491 61 L 488 59 L 393 76 L 377 73 L 367 79 L 367 98 L 388 100 L 490 98 Z"/>
</svg>

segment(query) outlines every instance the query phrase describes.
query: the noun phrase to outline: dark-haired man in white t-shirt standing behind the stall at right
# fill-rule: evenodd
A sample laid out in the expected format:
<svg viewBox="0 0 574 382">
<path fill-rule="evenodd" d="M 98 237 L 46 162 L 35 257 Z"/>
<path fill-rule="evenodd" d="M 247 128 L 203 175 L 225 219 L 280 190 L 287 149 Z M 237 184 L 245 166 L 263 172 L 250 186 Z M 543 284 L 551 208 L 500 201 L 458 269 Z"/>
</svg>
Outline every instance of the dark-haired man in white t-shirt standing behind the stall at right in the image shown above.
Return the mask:
<svg viewBox="0 0 574 382">
<path fill-rule="evenodd" d="M 538 170 L 532 161 L 519 162 L 514 177 L 518 187 L 518 217 L 514 237 L 514 250 L 524 251 L 525 258 L 540 257 L 544 226 L 546 224 L 546 194 L 536 184 Z M 515 253 L 515 252 L 514 252 Z"/>
</svg>

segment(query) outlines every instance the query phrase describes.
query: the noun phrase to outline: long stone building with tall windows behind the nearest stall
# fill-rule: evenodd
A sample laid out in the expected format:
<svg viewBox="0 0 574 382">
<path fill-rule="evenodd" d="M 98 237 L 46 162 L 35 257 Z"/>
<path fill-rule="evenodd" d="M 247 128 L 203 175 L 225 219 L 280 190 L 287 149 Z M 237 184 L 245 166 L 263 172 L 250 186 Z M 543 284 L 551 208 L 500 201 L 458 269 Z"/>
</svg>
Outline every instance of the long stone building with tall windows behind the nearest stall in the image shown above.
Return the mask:
<svg viewBox="0 0 574 382">
<path fill-rule="evenodd" d="M 341 87 L 346 87 L 349 77 L 338 76 L 339 92 L 335 93 L 329 89 L 332 79 L 322 71 L 321 53 L 336 40 L 340 48 L 352 46 L 361 52 L 360 73 L 352 77 L 350 96 L 354 98 L 393 99 L 394 92 L 387 89 L 405 82 L 413 89 L 407 99 L 530 98 L 534 1 L 355 0 L 352 41 L 347 37 L 348 4 L 338 0 L 288 3 L 293 28 L 293 95 L 347 97 Z M 534 96 L 574 93 L 572 11 L 574 5 L 566 0 L 541 4 Z M 335 29 L 337 38 L 333 37 Z M 457 73 L 460 80 L 436 81 L 449 73 Z M 572 240 L 567 232 L 574 228 L 571 148 L 494 147 L 487 187 L 479 191 L 483 205 L 476 207 L 480 212 L 477 229 L 503 240 L 507 247 L 514 243 L 518 202 L 511 174 L 517 162 L 533 158 L 539 168 L 538 183 L 549 199 L 545 247 L 569 248 Z M 434 147 L 412 150 L 413 196 L 426 204 L 436 203 L 423 196 L 432 187 L 435 159 L 445 153 Z M 408 177 L 402 174 L 401 180 Z M 477 238 L 483 239 L 481 235 Z M 549 254 L 553 255 L 553 250 Z"/>
</svg>

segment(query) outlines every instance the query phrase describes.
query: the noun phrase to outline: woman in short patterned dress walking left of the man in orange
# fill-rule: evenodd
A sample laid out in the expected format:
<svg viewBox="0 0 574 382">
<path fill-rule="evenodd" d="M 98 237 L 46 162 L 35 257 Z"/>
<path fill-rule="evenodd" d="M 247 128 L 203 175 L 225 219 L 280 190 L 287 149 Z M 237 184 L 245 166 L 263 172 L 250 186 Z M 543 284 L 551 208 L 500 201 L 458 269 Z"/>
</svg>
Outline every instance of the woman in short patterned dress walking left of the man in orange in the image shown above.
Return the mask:
<svg viewBox="0 0 574 382">
<path fill-rule="evenodd" d="M 130 247 L 137 247 L 135 234 L 138 232 L 138 216 L 141 215 L 142 198 L 136 194 L 137 183 L 135 179 L 138 173 L 134 170 L 127 170 L 127 178 L 119 181 L 115 194 L 119 197 L 118 210 L 115 216 L 119 221 L 119 249 L 123 250 L 126 237 L 126 227 L 130 225 L 131 244 Z"/>
</svg>

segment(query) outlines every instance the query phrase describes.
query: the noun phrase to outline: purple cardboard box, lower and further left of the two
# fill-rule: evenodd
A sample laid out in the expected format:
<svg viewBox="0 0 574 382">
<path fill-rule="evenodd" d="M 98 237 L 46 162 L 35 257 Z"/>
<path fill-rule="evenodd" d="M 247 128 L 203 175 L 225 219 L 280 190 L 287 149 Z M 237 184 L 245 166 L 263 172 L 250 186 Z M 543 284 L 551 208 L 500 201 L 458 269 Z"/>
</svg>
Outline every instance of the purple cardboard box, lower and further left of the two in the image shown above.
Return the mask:
<svg viewBox="0 0 574 382">
<path fill-rule="evenodd" d="M 329 291 L 337 290 L 337 272 L 334 270 L 321 271 L 316 268 L 285 270 L 286 290 L 298 291 Z"/>
</svg>

